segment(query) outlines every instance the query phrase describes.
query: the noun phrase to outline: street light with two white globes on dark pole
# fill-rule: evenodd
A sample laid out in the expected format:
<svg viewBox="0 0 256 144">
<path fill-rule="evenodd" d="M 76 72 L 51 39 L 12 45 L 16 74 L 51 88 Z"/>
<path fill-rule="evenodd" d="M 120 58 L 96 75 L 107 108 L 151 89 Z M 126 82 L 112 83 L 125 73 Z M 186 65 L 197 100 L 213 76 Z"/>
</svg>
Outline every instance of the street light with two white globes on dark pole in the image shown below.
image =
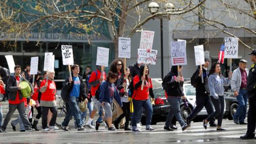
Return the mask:
<svg viewBox="0 0 256 144">
<path fill-rule="evenodd" d="M 173 10 L 174 5 L 172 3 L 166 3 L 164 5 L 164 10 L 169 11 Z M 156 2 L 151 2 L 148 4 L 148 10 L 151 14 L 155 14 L 159 10 L 159 5 Z M 164 77 L 164 50 L 163 50 L 163 17 L 166 17 L 167 15 L 161 15 L 160 17 L 157 17 L 160 19 L 160 33 L 161 33 L 161 78 Z"/>
</svg>

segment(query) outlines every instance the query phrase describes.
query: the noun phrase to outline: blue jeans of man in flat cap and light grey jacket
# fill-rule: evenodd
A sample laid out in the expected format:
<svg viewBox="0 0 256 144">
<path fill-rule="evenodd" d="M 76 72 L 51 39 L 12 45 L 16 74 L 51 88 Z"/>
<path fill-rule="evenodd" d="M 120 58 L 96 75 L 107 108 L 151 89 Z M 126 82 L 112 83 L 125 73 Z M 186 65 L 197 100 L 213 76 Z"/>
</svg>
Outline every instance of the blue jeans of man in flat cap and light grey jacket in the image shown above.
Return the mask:
<svg viewBox="0 0 256 144">
<path fill-rule="evenodd" d="M 238 107 L 236 114 L 234 114 L 233 118 L 238 119 L 239 123 L 243 123 L 246 117 L 247 91 L 240 89 L 236 99 L 238 101 Z"/>
</svg>

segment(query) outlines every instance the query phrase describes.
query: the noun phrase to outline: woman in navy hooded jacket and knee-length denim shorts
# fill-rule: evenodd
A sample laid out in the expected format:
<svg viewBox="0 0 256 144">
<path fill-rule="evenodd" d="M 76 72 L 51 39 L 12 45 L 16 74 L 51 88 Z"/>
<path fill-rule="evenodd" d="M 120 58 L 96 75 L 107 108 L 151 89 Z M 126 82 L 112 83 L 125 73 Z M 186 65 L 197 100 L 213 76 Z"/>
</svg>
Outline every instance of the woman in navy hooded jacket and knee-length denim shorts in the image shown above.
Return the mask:
<svg viewBox="0 0 256 144">
<path fill-rule="evenodd" d="M 102 82 L 100 85 L 100 97 L 99 102 L 105 111 L 105 115 L 103 117 L 103 121 L 108 125 L 109 131 L 115 131 L 116 129 L 112 127 L 112 105 L 113 100 L 115 99 L 118 103 L 119 107 L 122 107 L 122 102 L 117 92 L 116 86 L 114 82 L 116 82 L 118 75 L 113 72 L 109 72 L 107 76 L 107 80 Z M 99 129 L 99 124 L 96 123 L 95 129 Z"/>
</svg>

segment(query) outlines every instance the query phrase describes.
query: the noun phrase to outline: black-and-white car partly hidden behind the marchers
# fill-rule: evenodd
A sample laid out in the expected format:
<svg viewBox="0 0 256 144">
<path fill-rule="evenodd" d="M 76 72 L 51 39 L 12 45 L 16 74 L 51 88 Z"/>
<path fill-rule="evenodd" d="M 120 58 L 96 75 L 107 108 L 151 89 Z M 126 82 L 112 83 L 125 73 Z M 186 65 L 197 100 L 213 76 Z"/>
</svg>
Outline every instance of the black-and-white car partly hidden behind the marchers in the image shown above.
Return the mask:
<svg viewBox="0 0 256 144">
<path fill-rule="evenodd" d="M 153 82 L 153 80 L 152 80 Z M 156 86 L 154 85 L 156 83 Z M 162 88 L 162 81 L 159 79 L 154 79 L 153 83 L 153 92 L 155 94 L 155 105 L 153 105 L 153 116 L 151 119 L 151 124 L 154 125 L 158 122 L 165 122 L 166 117 L 169 113 L 170 105 L 165 97 L 165 91 Z M 159 86 L 159 84 L 161 84 Z M 186 95 L 186 101 L 188 103 L 188 107 L 185 106 L 185 103 L 182 101 L 180 105 L 181 116 L 185 120 L 186 117 L 192 112 L 196 105 L 196 89 L 193 87 L 190 82 L 185 82 L 183 84 L 183 90 Z M 238 102 L 236 98 L 232 97 L 231 94 L 225 94 L 225 110 L 224 117 L 228 119 L 233 119 L 233 115 L 236 113 L 236 109 L 238 106 Z M 145 125 L 146 121 L 146 111 L 143 110 L 141 124 Z M 198 118 L 207 117 L 206 109 L 203 108 L 202 111 L 197 115 Z M 197 118 L 196 117 L 196 118 Z"/>
</svg>

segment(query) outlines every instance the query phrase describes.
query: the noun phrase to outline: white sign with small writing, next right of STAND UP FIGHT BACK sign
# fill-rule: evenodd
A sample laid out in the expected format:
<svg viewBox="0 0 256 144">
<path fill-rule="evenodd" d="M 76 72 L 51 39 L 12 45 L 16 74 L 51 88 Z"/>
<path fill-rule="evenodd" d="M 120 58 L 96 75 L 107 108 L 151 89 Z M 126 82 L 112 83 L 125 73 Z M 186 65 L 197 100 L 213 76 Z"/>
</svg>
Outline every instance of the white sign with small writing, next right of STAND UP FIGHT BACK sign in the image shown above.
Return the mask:
<svg viewBox="0 0 256 144">
<path fill-rule="evenodd" d="M 97 66 L 108 67 L 109 49 L 105 47 L 98 47 L 97 51 Z"/>
</svg>

